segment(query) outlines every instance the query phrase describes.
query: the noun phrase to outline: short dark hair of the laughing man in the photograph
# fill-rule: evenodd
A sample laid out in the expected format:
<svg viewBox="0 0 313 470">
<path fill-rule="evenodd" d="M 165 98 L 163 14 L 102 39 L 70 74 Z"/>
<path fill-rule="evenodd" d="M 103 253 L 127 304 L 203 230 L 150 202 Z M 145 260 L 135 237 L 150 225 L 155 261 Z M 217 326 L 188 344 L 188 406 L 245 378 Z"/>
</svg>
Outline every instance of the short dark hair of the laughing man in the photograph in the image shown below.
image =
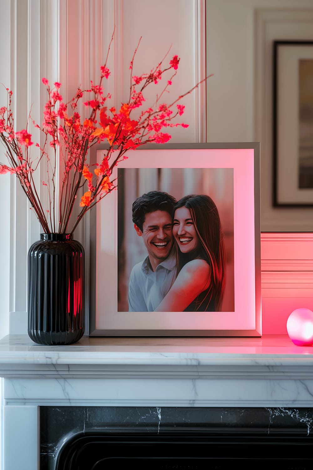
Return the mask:
<svg viewBox="0 0 313 470">
<path fill-rule="evenodd" d="M 137 197 L 134 201 L 132 220 L 134 224 L 142 230 L 145 222 L 145 214 L 154 211 L 166 211 L 172 216 L 175 204 L 175 197 L 170 196 L 168 193 L 162 191 L 149 191 L 148 193 Z"/>
</svg>

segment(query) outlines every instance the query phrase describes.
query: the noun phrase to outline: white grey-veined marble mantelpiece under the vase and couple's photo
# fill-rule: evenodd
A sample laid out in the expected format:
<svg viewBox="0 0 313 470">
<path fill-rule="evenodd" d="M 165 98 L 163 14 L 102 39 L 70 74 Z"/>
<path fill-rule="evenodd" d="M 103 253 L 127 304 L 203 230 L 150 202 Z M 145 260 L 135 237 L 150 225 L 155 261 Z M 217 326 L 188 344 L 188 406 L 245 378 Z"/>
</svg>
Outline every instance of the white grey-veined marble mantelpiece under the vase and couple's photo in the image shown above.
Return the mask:
<svg viewBox="0 0 313 470">
<path fill-rule="evenodd" d="M 313 407 L 313 347 L 285 335 L 54 347 L 11 335 L 0 340 L 0 376 L 1 470 L 39 469 L 38 406 Z"/>
</svg>

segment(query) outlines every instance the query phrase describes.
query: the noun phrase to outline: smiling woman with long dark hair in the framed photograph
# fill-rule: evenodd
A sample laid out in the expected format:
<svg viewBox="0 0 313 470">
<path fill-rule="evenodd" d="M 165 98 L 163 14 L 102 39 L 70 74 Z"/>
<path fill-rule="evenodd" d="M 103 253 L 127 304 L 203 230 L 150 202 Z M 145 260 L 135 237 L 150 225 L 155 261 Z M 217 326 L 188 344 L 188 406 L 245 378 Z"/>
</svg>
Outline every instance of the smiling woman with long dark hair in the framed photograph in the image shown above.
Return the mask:
<svg viewBox="0 0 313 470">
<path fill-rule="evenodd" d="M 218 312 L 225 291 L 225 249 L 211 197 L 189 195 L 174 207 L 177 277 L 157 312 Z"/>
</svg>

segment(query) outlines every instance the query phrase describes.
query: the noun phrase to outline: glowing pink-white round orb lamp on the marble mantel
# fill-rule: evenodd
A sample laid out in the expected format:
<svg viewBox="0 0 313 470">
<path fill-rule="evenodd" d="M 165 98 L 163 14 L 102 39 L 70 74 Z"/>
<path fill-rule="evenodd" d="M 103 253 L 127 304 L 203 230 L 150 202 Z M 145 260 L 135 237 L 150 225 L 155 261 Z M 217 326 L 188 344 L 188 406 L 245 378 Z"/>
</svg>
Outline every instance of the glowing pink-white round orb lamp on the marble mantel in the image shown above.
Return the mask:
<svg viewBox="0 0 313 470">
<path fill-rule="evenodd" d="M 297 308 L 287 320 L 287 332 L 297 346 L 313 345 L 313 312 L 308 308 Z"/>
</svg>

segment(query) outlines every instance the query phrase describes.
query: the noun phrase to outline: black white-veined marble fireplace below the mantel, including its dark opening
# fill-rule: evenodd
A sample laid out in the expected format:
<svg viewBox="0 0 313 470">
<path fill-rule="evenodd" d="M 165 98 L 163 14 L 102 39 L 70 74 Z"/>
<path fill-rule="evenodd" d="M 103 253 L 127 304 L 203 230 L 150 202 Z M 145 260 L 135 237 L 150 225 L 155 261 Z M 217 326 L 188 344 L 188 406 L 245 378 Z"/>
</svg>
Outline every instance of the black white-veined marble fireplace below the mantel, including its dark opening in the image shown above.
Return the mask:
<svg viewBox="0 0 313 470">
<path fill-rule="evenodd" d="M 40 407 L 40 470 L 311 470 L 312 408 Z"/>
</svg>

